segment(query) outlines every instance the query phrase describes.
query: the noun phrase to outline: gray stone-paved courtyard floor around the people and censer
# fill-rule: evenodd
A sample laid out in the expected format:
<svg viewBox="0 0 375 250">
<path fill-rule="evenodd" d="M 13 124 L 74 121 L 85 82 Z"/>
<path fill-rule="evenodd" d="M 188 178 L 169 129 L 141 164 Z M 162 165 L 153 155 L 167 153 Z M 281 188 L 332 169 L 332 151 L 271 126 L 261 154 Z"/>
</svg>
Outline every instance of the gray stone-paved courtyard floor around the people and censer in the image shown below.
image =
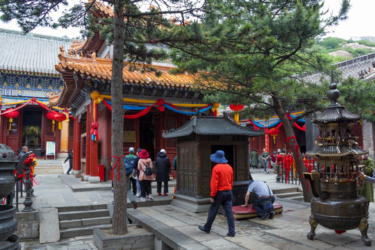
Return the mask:
<svg viewBox="0 0 375 250">
<path fill-rule="evenodd" d="M 272 173 L 253 173 L 253 178 L 267 181 L 272 189 L 293 185 L 275 183 L 275 175 Z M 56 175 L 41 175 L 38 176 L 38 181 L 40 185 L 35 186 L 35 206 L 76 206 L 110 203 L 113 200 L 110 183 L 99 184 L 108 186 L 108 190 L 72 192 Z M 154 193 L 155 191 L 153 190 Z M 156 197 L 156 201 L 158 199 L 166 198 Z M 138 202 L 141 202 L 140 199 Z M 358 229 L 338 235 L 335 231 L 318 225 L 315 240 L 308 240 L 306 234 L 310 231 L 310 204 L 290 199 L 276 199 L 276 202 L 283 205 L 283 214 L 265 221 L 254 218 L 235 222 L 237 234 L 234 238 L 226 237 L 228 226 L 223 215 L 217 215 L 211 233 L 206 234 L 199 231 L 197 226 L 206 222 L 207 213 L 190 213 L 173 205 L 147 206 L 138 210 L 131 208 L 128 213 L 134 217 L 142 217 L 144 223 L 148 219 L 156 219 L 160 227 L 169 228 L 171 232 L 181 232 L 196 242 L 183 245 L 181 249 L 372 249 L 365 247 L 360 240 Z M 375 203 L 370 204 L 369 214 L 368 235 L 374 241 Z M 67 238 L 50 244 L 39 244 L 38 240 L 23 240 L 21 244 L 22 249 L 97 249 L 92 235 Z"/>
</svg>

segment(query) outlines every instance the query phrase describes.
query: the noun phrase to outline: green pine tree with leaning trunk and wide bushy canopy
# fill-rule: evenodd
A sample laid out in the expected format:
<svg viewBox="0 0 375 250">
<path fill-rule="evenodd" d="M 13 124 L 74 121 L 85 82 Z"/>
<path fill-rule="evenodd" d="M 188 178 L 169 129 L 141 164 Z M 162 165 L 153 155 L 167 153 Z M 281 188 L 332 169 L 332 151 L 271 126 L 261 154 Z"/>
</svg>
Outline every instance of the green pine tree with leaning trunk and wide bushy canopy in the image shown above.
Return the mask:
<svg viewBox="0 0 375 250">
<path fill-rule="evenodd" d="M 313 44 L 327 26 L 346 18 L 349 1 L 342 1 L 338 15 L 328 17 L 322 13 L 323 3 L 208 1 L 199 25 L 185 28 L 185 37 L 200 39 L 191 40 L 188 46 L 170 44 L 175 48 L 174 63 L 181 71 L 197 74 L 197 85 L 211 98 L 242 102 L 264 117 L 278 115 L 290 138 L 305 201 L 312 196 L 302 177 L 303 159 L 286 113 L 288 107 L 297 105 L 311 106 L 307 110 L 313 112 L 321 103 L 317 97 L 326 92 L 322 86 L 304 81 L 301 74 L 327 70 L 329 58 Z"/>
</svg>

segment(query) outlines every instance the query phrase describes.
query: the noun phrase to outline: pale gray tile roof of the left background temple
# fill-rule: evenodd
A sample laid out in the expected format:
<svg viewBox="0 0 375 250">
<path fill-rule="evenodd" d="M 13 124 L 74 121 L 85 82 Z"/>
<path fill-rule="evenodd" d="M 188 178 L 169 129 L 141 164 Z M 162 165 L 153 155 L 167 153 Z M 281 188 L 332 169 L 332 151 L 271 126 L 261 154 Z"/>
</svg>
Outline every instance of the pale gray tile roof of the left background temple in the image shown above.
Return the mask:
<svg viewBox="0 0 375 250">
<path fill-rule="evenodd" d="M 60 46 L 70 48 L 71 39 L 10 31 L 0 28 L 0 70 L 59 74 Z"/>
</svg>

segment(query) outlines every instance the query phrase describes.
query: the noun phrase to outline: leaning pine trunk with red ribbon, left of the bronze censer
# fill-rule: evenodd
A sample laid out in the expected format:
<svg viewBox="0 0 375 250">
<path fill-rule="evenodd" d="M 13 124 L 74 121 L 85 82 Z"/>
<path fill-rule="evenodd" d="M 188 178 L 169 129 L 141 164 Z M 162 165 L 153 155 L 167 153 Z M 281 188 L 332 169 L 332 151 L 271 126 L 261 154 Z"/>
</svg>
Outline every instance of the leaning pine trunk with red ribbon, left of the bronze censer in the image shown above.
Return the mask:
<svg viewBox="0 0 375 250">
<path fill-rule="evenodd" d="M 308 189 L 307 181 L 305 178 L 303 178 L 303 175 L 302 175 L 303 172 L 306 172 L 305 165 L 303 164 L 302 153 L 299 150 L 299 147 L 293 147 L 294 145 L 297 144 L 297 140 L 295 139 L 295 134 L 292 128 L 292 124 L 290 124 L 290 121 L 285 113 L 285 110 L 283 109 L 281 101 L 277 99 L 276 97 L 272 97 L 272 99 L 274 101 L 274 109 L 276 111 L 276 114 L 278 115 L 278 118 L 280 118 L 281 122 L 283 123 L 285 134 L 287 135 L 287 138 L 291 138 L 288 144 L 292 148 L 294 161 L 296 163 L 297 174 L 299 176 L 299 180 L 301 181 L 302 190 L 303 190 L 303 200 L 306 202 L 310 202 L 311 198 L 313 198 L 313 193 L 311 192 L 310 189 Z"/>
</svg>

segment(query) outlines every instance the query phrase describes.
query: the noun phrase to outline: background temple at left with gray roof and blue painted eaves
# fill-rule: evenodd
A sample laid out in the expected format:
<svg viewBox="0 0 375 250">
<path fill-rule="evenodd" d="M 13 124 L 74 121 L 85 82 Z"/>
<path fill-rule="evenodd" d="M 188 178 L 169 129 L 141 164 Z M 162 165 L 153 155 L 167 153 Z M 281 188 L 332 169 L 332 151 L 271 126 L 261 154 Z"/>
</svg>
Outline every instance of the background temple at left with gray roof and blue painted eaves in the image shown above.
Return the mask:
<svg viewBox="0 0 375 250">
<path fill-rule="evenodd" d="M 47 119 L 49 99 L 63 90 L 63 80 L 54 65 L 61 45 L 68 38 L 48 35 L 26 35 L 0 28 L 0 106 L 1 112 L 17 109 L 10 119 L 0 115 L 0 143 L 19 152 L 22 146 L 43 157 L 47 142 L 56 142 L 56 154 L 67 153 L 73 144 L 73 122 L 63 122 L 63 129 Z M 33 98 L 35 101 L 30 101 Z M 25 103 L 27 103 L 25 105 Z"/>
</svg>

